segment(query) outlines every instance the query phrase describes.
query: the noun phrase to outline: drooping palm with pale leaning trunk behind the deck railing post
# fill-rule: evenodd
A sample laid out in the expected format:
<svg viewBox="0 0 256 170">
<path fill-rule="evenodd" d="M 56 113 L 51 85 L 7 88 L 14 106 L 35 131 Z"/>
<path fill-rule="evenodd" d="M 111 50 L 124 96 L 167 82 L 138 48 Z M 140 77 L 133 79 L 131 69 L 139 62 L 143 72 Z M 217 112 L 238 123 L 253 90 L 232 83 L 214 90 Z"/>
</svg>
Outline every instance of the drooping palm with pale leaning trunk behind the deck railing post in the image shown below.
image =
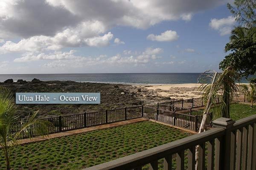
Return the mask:
<svg viewBox="0 0 256 170">
<path fill-rule="evenodd" d="M 199 83 L 202 83 L 199 90 L 203 92 L 202 97 L 205 100 L 206 107 L 204 109 L 203 118 L 199 128 L 201 133 L 205 130 L 205 122 L 210 109 L 215 109 L 214 118 L 217 117 L 230 117 L 230 100 L 233 94 L 238 91 L 236 82 L 238 81 L 238 74 L 232 67 L 226 68 L 222 73 L 216 71 L 206 71 L 199 77 Z M 209 84 L 209 82 L 211 82 Z M 217 99 L 220 99 L 218 101 Z M 219 104 L 218 104 L 219 103 Z M 218 106 L 217 106 L 218 104 Z M 196 147 L 196 168 L 198 163 L 198 148 Z"/>
</svg>

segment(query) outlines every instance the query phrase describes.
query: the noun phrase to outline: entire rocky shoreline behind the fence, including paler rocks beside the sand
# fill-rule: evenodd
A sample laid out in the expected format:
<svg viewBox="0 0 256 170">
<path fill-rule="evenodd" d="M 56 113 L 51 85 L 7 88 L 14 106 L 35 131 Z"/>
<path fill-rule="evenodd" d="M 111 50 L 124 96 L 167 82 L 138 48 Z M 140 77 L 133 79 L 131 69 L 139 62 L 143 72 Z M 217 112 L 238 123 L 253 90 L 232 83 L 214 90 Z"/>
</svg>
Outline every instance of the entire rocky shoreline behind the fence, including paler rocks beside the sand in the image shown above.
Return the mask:
<svg viewBox="0 0 256 170">
<path fill-rule="evenodd" d="M 73 81 L 32 81 L 18 80 L 13 82 L 8 79 L 0 82 L 0 85 L 9 88 L 13 95 L 18 92 L 77 92 L 77 93 L 101 93 L 99 105 L 17 105 L 17 115 L 24 118 L 33 111 L 39 110 L 38 118 L 70 115 L 106 109 L 124 108 L 137 105 L 156 105 L 157 102 L 170 100 L 169 97 L 160 96 L 154 90 L 133 85 L 73 82 Z"/>
</svg>

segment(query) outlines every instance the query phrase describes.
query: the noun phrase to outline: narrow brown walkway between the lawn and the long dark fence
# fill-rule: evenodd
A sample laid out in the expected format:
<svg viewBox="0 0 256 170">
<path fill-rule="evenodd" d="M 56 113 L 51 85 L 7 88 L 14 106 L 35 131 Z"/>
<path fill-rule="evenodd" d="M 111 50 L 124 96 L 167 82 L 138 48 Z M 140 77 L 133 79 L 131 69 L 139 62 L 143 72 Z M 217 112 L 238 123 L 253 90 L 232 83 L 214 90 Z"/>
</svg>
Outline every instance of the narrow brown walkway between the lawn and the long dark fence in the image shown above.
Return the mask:
<svg viewBox="0 0 256 170">
<path fill-rule="evenodd" d="M 143 122 L 143 121 L 146 121 L 146 120 L 148 120 L 148 119 L 137 118 L 137 119 L 125 120 L 125 121 L 122 121 L 122 122 L 114 122 L 114 123 L 105 124 L 105 125 L 86 127 L 86 128 L 82 128 L 82 129 L 69 130 L 69 131 L 59 132 L 59 133 L 52 133 L 52 134 L 49 134 L 48 136 L 39 136 L 39 137 L 31 138 L 31 139 L 22 139 L 22 140 L 20 140 L 19 143 L 20 144 L 27 144 L 27 143 L 32 143 L 32 142 L 45 141 L 45 140 L 52 139 L 52 138 L 59 138 L 59 137 L 62 137 L 62 136 L 70 136 L 70 135 L 75 135 L 75 134 L 78 134 L 78 133 L 85 133 L 85 132 L 89 132 L 89 131 L 93 131 L 93 130 L 106 129 L 106 128 L 109 128 L 109 127 L 128 125 L 128 124 L 131 124 L 131 123 Z"/>
</svg>

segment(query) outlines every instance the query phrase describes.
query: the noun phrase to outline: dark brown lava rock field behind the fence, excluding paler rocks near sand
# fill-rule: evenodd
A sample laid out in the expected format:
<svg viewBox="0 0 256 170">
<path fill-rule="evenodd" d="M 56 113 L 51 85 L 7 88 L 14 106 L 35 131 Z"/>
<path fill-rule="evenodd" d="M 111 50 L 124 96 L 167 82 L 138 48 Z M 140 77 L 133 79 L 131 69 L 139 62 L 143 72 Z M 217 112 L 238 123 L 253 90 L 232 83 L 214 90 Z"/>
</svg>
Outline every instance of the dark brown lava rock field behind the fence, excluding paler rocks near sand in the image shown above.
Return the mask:
<svg viewBox="0 0 256 170">
<path fill-rule="evenodd" d="M 97 93 L 100 92 L 100 104 L 97 105 L 77 105 L 77 104 L 24 104 L 17 105 L 17 112 L 15 115 L 20 118 L 26 118 L 29 113 L 38 111 L 37 118 L 56 117 L 59 115 L 71 115 L 80 113 L 90 113 L 94 111 L 105 111 L 106 109 L 116 109 L 134 106 L 134 103 L 142 103 L 134 95 L 125 95 L 119 92 L 120 89 L 113 88 L 113 84 L 107 83 L 92 83 L 92 82 L 72 82 L 72 81 L 40 81 L 40 83 L 33 83 L 31 81 L 20 85 L 19 83 L 1 83 L 15 93 Z M 119 85 L 120 88 L 120 85 Z M 131 94 L 130 85 L 122 85 L 123 93 Z M 136 90 L 137 91 L 137 90 Z M 143 98 L 143 97 L 141 97 Z M 15 102 L 15 100 L 14 100 Z"/>
</svg>

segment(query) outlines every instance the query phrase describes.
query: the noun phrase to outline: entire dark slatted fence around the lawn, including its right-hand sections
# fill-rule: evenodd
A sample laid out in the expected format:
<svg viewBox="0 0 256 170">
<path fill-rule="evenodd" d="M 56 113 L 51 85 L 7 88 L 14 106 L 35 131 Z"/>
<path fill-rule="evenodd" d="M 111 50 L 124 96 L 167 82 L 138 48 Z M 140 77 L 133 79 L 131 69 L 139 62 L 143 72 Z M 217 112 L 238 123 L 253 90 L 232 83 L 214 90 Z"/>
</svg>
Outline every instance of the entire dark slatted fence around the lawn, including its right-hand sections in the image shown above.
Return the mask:
<svg viewBox="0 0 256 170">
<path fill-rule="evenodd" d="M 248 102 L 244 94 L 234 94 L 232 96 L 232 101 Z M 216 103 L 218 102 L 221 102 L 221 98 L 216 99 Z M 58 116 L 40 120 L 52 123 L 52 126 L 48 127 L 49 133 L 58 133 L 61 131 L 104 125 L 141 117 L 198 131 L 204 112 L 196 110 L 196 108 L 203 106 L 203 98 L 194 98 L 158 103 L 157 108 L 141 105 L 129 108 Z M 206 127 L 211 126 L 211 122 L 212 113 L 209 113 L 207 115 Z M 21 123 L 16 122 L 15 125 L 13 125 L 11 132 L 15 133 L 19 131 L 21 127 Z M 21 133 L 21 137 L 26 138 L 28 136 L 26 133 Z"/>
</svg>

